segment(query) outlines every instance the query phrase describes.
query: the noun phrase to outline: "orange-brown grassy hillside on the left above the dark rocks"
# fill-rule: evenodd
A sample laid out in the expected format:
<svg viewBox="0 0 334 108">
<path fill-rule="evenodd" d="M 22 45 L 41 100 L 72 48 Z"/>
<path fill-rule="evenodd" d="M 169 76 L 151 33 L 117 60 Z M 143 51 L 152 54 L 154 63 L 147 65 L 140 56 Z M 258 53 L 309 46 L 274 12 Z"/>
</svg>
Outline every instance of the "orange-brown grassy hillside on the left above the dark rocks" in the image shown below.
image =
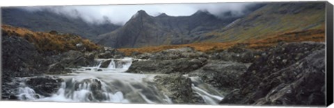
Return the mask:
<svg viewBox="0 0 334 108">
<path fill-rule="evenodd" d="M 78 35 L 61 34 L 56 31 L 33 32 L 26 28 L 2 25 L 2 35 L 17 36 L 31 42 L 40 53 L 54 51 L 62 53 L 65 51 L 95 51 L 100 48 L 88 39 L 82 39 Z"/>
</svg>

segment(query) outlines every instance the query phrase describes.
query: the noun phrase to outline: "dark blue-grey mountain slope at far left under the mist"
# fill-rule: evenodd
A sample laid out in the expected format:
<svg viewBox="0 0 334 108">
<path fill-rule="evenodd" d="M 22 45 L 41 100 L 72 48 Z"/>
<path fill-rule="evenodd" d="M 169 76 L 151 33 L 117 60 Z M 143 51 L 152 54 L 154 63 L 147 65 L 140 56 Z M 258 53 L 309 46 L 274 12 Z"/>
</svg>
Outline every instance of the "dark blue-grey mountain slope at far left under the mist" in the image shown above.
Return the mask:
<svg viewBox="0 0 334 108">
<path fill-rule="evenodd" d="M 60 33 L 77 34 L 88 39 L 120 27 L 111 23 L 88 24 L 82 19 L 65 17 L 48 10 L 29 12 L 22 8 L 1 8 L 1 14 L 2 24 L 28 28 L 33 31 L 56 30 Z"/>
</svg>

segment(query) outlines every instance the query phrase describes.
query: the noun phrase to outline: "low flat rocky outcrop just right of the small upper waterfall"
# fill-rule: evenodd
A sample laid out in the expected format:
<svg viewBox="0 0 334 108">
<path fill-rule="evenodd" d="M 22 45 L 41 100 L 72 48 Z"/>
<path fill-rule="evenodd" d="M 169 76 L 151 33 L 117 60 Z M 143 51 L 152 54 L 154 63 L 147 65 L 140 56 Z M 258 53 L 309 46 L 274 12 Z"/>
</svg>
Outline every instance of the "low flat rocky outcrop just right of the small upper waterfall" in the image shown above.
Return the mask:
<svg viewBox="0 0 334 108">
<path fill-rule="evenodd" d="M 204 53 L 192 48 L 177 48 L 153 54 L 143 54 L 148 60 L 133 62 L 129 73 L 189 73 L 206 64 Z M 145 57 L 138 55 L 140 57 Z"/>
</svg>

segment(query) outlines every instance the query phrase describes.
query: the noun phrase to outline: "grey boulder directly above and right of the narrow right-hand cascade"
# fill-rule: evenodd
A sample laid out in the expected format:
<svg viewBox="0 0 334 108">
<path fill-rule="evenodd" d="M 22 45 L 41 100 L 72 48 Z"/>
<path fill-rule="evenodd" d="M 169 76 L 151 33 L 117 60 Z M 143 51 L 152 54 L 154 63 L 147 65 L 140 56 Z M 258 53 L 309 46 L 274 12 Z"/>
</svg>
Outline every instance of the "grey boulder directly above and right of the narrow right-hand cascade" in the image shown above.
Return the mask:
<svg viewBox="0 0 334 108">
<path fill-rule="evenodd" d="M 237 62 L 209 60 L 202 68 L 189 73 L 199 76 L 204 82 L 224 91 L 239 88 L 240 76 L 246 72 L 246 65 Z"/>
</svg>

